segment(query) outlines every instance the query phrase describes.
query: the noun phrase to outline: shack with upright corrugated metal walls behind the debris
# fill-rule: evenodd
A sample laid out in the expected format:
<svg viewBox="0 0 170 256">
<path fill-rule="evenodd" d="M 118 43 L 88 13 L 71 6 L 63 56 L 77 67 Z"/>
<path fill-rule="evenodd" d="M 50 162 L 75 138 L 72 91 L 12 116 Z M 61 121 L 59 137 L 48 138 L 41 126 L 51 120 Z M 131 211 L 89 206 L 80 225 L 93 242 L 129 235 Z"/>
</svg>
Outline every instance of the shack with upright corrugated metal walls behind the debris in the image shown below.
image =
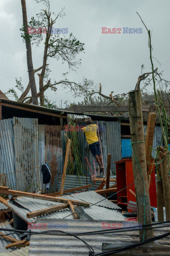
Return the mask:
<svg viewBox="0 0 170 256">
<path fill-rule="evenodd" d="M 48 164 L 52 173 L 49 193 L 57 190 L 58 175 L 63 172 L 65 157 L 65 127 L 69 116 L 73 119 L 83 113 L 49 109 L 21 102 L 0 100 L 0 174 L 1 185 L 23 191 L 45 191 L 40 166 Z M 98 123 L 101 150 L 106 169 L 107 154 L 112 155 L 111 171 L 115 173 L 115 161 L 131 157 L 129 119 L 124 117 L 88 115 Z M 145 126 L 145 130 L 146 130 Z M 86 180 L 85 159 L 91 169 L 94 159 L 84 133 L 78 135 L 78 149 Z M 156 126 L 153 147 L 162 139 L 160 126 Z M 154 151 L 152 153 L 154 156 Z M 75 163 L 76 164 L 76 163 Z M 88 175 L 90 175 L 88 169 Z M 83 178 L 82 178 L 83 179 Z M 82 181 L 82 183 L 84 182 Z M 79 179 L 81 186 L 81 181 Z"/>
</svg>

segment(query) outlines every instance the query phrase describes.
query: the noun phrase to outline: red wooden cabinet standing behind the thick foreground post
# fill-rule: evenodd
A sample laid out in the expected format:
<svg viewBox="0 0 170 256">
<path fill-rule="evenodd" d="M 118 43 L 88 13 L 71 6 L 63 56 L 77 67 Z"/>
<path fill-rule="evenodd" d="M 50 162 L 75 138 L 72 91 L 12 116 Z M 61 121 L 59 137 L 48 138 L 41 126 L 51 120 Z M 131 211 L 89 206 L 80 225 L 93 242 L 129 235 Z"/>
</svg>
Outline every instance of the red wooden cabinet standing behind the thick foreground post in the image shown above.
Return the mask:
<svg viewBox="0 0 170 256">
<path fill-rule="evenodd" d="M 117 180 L 117 204 L 123 209 L 126 209 L 129 201 L 136 202 L 135 196 L 131 194 L 129 189 L 135 193 L 132 159 L 122 159 L 115 162 L 116 164 L 116 180 Z M 155 165 L 150 165 L 151 181 L 150 181 L 150 205 L 157 207 L 156 196 L 156 180 L 155 180 Z M 154 170 L 154 171 L 153 171 Z M 131 185 L 133 183 L 133 185 Z M 130 186 L 131 185 L 131 186 Z M 142 184 L 141 184 L 142 186 Z M 126 188 L 127 187 L 127 188 Z"/>
</svg>

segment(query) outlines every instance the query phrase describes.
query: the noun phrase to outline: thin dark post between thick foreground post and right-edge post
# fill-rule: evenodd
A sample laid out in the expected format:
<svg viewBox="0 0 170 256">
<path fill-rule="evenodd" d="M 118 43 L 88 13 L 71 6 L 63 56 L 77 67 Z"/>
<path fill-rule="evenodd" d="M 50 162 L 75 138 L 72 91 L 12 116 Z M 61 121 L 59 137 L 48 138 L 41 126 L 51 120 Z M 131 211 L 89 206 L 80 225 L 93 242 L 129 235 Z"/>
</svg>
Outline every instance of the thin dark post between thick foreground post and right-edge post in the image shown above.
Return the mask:
<svg viewBox="0 0 170 256">
<path fill-rule="evenodd" d="M 157 209 L 158 209 L 158 222 L 164 221 L 164 192 L 163 192 L 163 183 L 161 178 L 160 166 L 157 167 Z"/>
</svg>

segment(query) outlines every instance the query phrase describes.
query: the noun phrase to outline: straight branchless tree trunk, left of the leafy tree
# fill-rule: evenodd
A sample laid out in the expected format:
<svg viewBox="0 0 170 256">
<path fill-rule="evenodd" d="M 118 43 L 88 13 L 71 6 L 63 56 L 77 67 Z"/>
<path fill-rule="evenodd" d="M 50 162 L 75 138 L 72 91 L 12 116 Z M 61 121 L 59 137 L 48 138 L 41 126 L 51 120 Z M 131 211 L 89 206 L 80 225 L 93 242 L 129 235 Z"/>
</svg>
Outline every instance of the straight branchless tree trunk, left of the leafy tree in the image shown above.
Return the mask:
<svg viewBox="0 0 170 256">
<path fill-rule="evenodd" d="M 25 45 L 27 49 L 27 67 L 28 67 L 29 82 L 31 87 L 32 103 L 34 105 L 38 105 L 36 81 L 35 81 L 35 75 L 34 75 L 33 64 L 32 64 L 31 42 L 28 34 L 27 9 L 26 9 L 25 0 L 21 0 L 21 5 L 22 5 L 23 26 L 25 30 L 24 34 L 25 34 Z"/>
</svg>

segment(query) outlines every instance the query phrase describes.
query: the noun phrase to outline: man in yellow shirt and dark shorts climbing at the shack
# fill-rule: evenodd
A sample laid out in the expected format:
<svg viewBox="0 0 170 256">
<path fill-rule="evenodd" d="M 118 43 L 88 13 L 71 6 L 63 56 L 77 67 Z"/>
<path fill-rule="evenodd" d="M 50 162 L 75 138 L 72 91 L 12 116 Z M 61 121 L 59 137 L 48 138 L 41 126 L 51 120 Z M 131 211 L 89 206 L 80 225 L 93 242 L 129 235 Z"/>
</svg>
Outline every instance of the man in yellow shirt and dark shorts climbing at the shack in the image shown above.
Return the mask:
<svg viewBox="0 0 170 256">
<path fill-rule="evenodd" d="M 104 170 L 103 161 L 100 151 L 100 142 L 97 137 L 98 126 L 92 122 L 91 119 L 85 120 L 87 126 L 83 127 L 84 133 L 86 135 L 86 140 L 89 144 L 92 155 L 96 158 L 97 163 L 100 167 L 100 173 Z"/>
</svg>

